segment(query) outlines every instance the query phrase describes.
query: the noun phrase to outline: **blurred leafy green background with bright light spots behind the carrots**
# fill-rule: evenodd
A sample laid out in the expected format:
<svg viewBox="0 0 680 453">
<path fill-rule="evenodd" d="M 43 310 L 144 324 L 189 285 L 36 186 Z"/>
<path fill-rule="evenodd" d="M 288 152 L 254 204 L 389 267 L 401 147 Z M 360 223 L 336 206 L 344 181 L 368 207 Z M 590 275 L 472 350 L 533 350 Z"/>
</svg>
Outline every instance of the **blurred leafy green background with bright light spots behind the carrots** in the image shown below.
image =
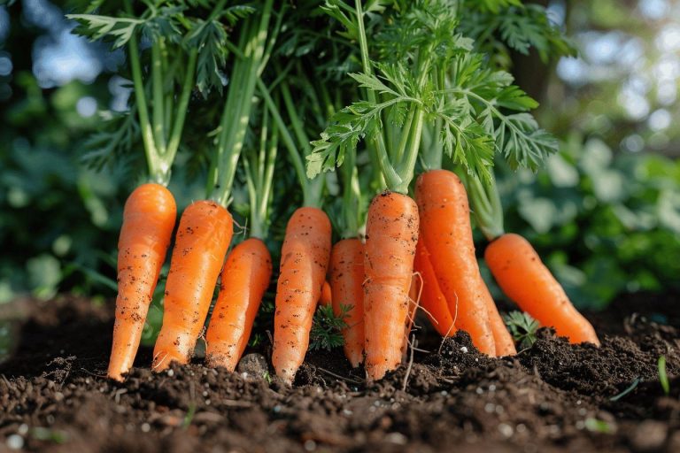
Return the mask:
<svg viewBox="0 0 680 453">
<path fill-rule="evenodd" d="M 560 153 L 538 173 L 498 167 L 506 229 L 535 244 L 582 307 L 674 288 L 680 2 L 539 3 L 580 53 L 553 61 L 541 47 L 489 42 L 542 104 L 541 126 L 560 138 Z M 0 6 L 0 303 L 24 294 L 71 291 L 99 301 L 115 294 L 122 205 L 142 169 L 125 159 L 106 172 L 82 165 L 84 143 L 101 122 L 97 109 L 125 109 L 129 88 L 114 75 L 122 52 L 70 33 L 63 14 L 79 6 Z M 503 35 L 513 26 L 521 24 L 487 29 Z M 180 208 L 202 193 L 194 175 L 186 165 L 173 180 Z"/>
</svg>

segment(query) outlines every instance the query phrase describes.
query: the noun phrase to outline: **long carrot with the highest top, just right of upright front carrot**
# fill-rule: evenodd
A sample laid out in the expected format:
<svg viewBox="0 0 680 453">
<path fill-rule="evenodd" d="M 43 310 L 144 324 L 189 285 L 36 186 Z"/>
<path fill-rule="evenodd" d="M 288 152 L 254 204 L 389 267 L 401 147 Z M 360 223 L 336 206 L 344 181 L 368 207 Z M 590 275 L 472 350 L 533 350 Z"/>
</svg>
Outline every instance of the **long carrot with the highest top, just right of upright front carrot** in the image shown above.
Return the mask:
<svg viewBox="0 0 680 453">
<path fill-rule="evenodd" d="M 475 347 L 496 355 L 487 306 L 493 303 L 479 273 L 472 240 L 468 195 L 455 173 L 430 170 L 415 186 L 422 241 L 456 326 L 470 334 Z"/>
</svg>

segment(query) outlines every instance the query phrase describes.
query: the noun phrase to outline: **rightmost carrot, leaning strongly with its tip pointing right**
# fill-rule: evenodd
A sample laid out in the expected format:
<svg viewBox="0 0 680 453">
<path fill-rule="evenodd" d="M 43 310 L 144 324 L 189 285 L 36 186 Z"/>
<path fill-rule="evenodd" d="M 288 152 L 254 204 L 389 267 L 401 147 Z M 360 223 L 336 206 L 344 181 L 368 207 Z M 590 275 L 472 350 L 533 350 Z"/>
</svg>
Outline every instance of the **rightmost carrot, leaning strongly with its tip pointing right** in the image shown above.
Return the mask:
<svg viewBox="0 0 680 453">
<path fill-rule="evenodd" d="M 519 234 L 503 234 L 489 244 L 484 257 L 500 288 L 542 326 L 554 326 L 569 342 L 599 345 L 591 323 L 576 311 L 526 239 Z"/>
</svg>

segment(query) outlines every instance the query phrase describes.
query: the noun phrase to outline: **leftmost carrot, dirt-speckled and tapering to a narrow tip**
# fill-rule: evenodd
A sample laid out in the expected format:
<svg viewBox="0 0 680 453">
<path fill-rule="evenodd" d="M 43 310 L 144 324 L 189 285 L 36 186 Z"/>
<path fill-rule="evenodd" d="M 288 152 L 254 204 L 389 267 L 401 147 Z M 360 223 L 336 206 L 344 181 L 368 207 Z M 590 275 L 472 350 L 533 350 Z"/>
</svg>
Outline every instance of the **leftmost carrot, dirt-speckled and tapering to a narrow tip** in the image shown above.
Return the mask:
<svg viewBox="0 0 680 453">
<path fill-rule="evenodd" d="M 122 380 L 135 361 L 158 274 L 172 239 L 177 206 L 173 194 L 155 183 L 128 196 L 118 241 L 118 297 L 108 375 Z"/>
</svg>

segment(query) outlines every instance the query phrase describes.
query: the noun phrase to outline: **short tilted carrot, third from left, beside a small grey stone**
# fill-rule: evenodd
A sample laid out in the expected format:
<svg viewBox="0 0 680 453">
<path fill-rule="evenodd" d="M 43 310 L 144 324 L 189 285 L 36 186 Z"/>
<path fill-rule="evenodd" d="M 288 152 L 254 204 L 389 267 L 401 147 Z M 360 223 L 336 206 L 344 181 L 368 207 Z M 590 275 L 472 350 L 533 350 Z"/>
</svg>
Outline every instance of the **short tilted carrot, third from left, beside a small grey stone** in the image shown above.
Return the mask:
<svg viewBox="0 0 680 453">
<path fill-rule="evenodd" d="M 250 238 L 229 252 L 205 334 L 209 366 L 223 366 L 231 372 L 236 369 L 271 278 L 272 257 L 264 242 Z"/>
</svg>

